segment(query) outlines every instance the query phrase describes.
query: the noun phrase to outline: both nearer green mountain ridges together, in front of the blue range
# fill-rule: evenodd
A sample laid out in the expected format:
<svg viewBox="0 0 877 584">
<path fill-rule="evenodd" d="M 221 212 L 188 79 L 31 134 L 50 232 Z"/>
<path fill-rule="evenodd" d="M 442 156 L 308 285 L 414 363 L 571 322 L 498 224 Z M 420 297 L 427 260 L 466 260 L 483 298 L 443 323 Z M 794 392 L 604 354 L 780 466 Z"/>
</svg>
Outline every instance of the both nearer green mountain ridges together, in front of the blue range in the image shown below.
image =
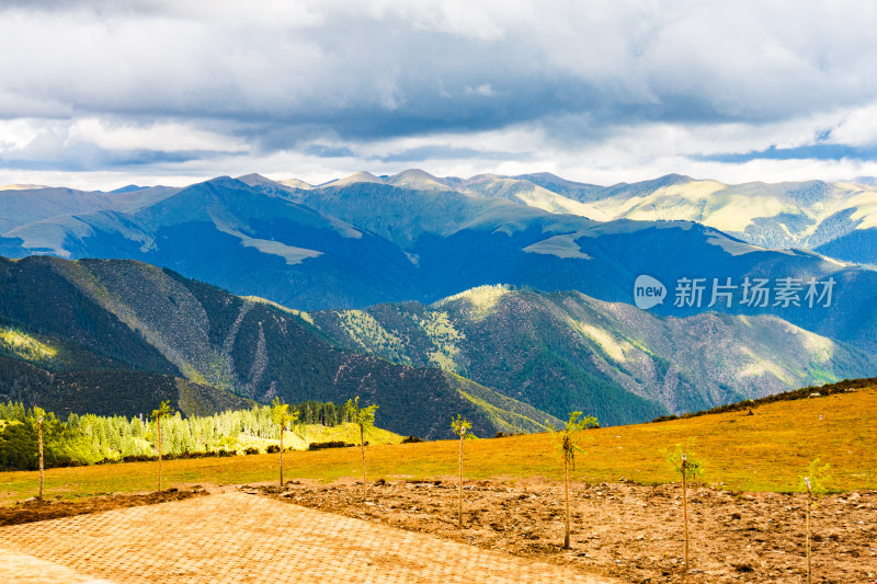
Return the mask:
<svg viewBox="0 0 877 584">
<path fill-rule="evenodd" d="M 773 316 L 660 318 L 581 293 L 486 286 L 304 312 L 130 260 L 0 261 L 0 388 L 58 411 L 210 413 L 275 396 L 378 403 L 402 434 L 604 424 L 877 371 L 865 352 Z M 3 382 L 5 381 L 5 382 Z"/>
</svg>

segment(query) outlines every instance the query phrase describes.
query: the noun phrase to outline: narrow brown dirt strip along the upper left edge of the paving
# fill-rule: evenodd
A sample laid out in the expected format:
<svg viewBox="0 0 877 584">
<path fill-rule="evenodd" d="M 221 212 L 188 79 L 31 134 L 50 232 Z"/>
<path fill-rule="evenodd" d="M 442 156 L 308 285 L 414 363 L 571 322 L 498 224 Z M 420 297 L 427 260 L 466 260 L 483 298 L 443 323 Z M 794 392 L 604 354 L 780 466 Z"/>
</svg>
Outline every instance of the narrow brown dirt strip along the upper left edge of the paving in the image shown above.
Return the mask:
<svg viewBox="0 0 877 584">
<path fill-rule="evenodd" d="M 107 494 L 94 496 L 82 501 L 53 501 L 45 500 L 39 502 L 36 499 L 8 507 L 0 507 L 0 526 L 19 525 L 23 523 L 43 522 L 59 517 L 72 517 L 73 515 L 84 515 L 99 511 L 110 511 L 124 507 L 138 507 L 140 505 L 152 505 L 168 501 L 182 501 L 192 496 L 208 494 L 201 486 L 193 486 L 191 490 L 166 489 L 153 493 L 145 494 Z"/>
</svg>

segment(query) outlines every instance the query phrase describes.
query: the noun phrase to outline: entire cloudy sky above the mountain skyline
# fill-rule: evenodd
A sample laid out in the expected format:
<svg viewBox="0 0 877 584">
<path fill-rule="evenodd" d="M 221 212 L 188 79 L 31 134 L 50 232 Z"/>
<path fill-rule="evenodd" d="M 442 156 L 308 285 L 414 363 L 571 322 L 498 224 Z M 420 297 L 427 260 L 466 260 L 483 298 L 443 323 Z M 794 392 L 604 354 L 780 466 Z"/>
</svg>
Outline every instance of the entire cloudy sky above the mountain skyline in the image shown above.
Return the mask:
<svg viewBox="0 0 877 584">
<path fill-rule="evenodd" d="M 877 175 L 870 0 L 3 0 L 0 184 Z"/>
</svg>

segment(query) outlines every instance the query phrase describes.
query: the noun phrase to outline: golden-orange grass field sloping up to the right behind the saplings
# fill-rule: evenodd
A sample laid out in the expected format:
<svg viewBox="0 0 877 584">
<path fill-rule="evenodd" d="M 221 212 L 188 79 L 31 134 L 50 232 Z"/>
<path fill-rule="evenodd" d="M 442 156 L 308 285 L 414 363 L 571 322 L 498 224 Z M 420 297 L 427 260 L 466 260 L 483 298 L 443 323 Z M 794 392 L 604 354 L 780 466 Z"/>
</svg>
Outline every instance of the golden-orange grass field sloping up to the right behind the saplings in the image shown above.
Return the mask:
<svg viewBox="0 0 877 584">
<path fill-rule="evenodd" d="M 662 483 L 675 480 L 665 451 L 694 440 L 703 480 L 736 491 L 799 491 L 811 460 L 831 465 L 831 491 L 877 489 L 877 388 L 761 405 L 754 415 L 730 412 L 657 424 L 613 426 L 582 433 L 583 454 L 572 473 L 585 482 Z M 819 416 L 822 415 L 820 421 Z M 448 421 L 449 423 L 449 421 Z M 368 478 L 453 477 L 456 440 L 369 446 Z M 560 456 L 549 434 L 467 440 L 464 476 L 514 482 L 561 478 Z M 333 481 L 360 476 L 360 449 L 286 453 L 284 477 Z M 46 496 L 156 489 L 157 462 L 50 469 Z M 0 505 L 33 496 L 38 472 L 0 473 Z M 277 478 L 277 455 L 164 462 L 164 485 L 239 484 Z"/>
</svg>

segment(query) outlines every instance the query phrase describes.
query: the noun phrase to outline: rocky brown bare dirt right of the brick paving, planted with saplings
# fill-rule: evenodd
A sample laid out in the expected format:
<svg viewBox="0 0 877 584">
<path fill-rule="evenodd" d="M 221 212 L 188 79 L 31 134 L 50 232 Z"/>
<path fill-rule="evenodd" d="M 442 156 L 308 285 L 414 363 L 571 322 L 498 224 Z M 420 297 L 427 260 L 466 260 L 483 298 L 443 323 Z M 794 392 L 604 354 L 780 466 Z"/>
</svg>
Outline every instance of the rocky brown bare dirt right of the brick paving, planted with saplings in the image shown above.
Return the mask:
<svg viewBox="0 0 877 584">
<path fill-rule="evenodd" d="M 291 481 L 242 486 L 281 501 L 429 533 L 480 548 L 615 576 L 626 582 L 796 582 L 805 580 L 802 495 L 688 492 L 691 571 L 683 577 L 680 485 L 574 484 L 571 550 L 562 549 L 562 485 L 391 480 L 368 485 Z M 877 492 L 830 495 L 813 511 L 813 582 L 877 579 Z"/>
</svg>

